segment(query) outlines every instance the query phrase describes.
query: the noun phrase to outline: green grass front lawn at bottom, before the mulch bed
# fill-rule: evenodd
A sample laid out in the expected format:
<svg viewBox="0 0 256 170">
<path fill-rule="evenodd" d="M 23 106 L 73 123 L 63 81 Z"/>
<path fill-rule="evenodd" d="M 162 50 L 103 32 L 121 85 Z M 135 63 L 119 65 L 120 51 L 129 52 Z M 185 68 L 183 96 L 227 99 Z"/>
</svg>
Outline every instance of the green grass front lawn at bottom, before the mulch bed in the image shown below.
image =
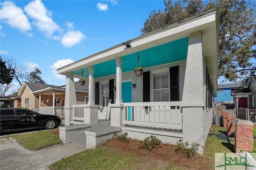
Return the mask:
<svg viewBox="0 0 256 170">
<path fill-rule="evenodd" d="M 137 170 L 148 169 L 145 157 L 132 155 L 116 148 L 99 146 L 88 149 L 72 156 L 68 156 L 50 166 L 50 170 Z M 158 169 L 157 162 L 152 162 L 151 167 Z M 160 168 L 160 167 L 159 167 Z"/>
</svg>

